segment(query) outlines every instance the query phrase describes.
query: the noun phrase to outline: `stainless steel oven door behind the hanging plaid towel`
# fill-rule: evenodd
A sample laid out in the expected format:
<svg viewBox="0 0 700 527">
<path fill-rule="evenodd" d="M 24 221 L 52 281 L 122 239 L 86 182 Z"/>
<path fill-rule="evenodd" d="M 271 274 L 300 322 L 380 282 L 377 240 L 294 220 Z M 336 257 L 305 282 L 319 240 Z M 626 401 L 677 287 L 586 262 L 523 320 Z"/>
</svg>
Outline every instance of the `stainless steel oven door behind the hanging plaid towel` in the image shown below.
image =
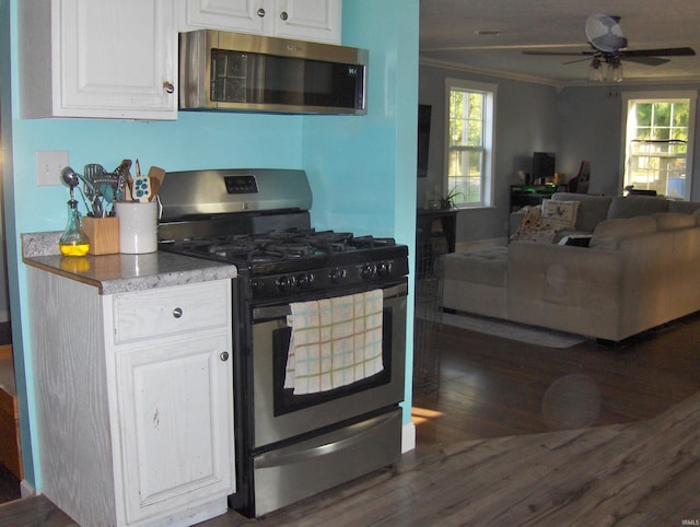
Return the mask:
<svg viewBox="0 0 700 527">
<path fill-rule="evenodd" d="M 384 286 L 384 370 L 353 384 L 308 395 L 284 388 L 289 304 L 253 309 L 253 448 L 332 426 L 404 400 L 407 281 Z"/>
</svg>

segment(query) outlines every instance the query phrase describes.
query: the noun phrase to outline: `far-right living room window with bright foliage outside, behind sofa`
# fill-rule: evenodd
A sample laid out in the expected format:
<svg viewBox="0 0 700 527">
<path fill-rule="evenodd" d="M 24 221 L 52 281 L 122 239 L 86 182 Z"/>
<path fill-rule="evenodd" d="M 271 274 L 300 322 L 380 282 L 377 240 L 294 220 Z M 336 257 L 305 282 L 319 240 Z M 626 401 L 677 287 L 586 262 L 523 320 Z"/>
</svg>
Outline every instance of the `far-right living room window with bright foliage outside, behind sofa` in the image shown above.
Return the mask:
<svg viewBox="0 0 700 527">
<path fill-rule="evenodd" d="M 696 98 L 696 92 L 623 95 L 626 189 L 690 198 Z"/>
</svg>

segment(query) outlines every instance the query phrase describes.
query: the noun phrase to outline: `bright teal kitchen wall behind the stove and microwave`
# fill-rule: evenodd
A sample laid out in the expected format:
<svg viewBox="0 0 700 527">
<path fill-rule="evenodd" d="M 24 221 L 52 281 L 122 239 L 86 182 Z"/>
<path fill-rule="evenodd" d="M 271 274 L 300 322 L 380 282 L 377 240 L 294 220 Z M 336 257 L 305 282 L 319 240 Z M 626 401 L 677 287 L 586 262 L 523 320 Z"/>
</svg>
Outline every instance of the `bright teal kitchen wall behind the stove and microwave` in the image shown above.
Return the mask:
<svg viewBox="0 0 700 527">
<path fill-rule="evenodd" d="M 20 234 L 62 230 L 68 189 L 36 185 L 35 152 L 67 150 L 71 166 L 79 172 L 88 163 L 116 167 L 125 157 L 139 159 L 144 168 L 156 165 L 166 171 L 304 168 L 314 191 L 314 226 L 395 236 L 408 244 L 412 254 L 419 0 L 343 2 L 343 44 L 370 49 L 368 116 L 180 113 L 176 121 L 20 118 L 20 1 L 0 0 L 3 185 L 25 479 L 40 491 Z M 70 306 L 57 308 L 68 311 Z M 410 421 L 412 291 L 408 319 L 405 423 Z M 80 338 L 80 321 L 72 324 Z"/>
</svg>

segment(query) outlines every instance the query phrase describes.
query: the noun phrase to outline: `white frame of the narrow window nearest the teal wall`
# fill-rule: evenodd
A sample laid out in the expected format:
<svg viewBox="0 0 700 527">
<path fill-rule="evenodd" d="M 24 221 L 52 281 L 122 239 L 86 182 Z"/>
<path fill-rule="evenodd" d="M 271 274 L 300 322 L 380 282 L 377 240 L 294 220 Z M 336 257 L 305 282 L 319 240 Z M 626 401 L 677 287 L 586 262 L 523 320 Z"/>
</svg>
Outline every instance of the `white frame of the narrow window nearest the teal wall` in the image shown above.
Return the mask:
<svg viewBox="0 0 700 527">
<path fill-rule="evenodd" d="M 479 209 L 493 207 L 493 166 L 495 159 L 495 108 L 498 84 L 486 82 L 469 81 L 465 79 L 445 79 L 445 141 L 444 141 L 444 177 L 443 189 L 444 195 L 452 190 L 450 185 L 450 93 L 453 90 L 464 90 L 469 92 L 480 92 L 486 96 L 487 115 L 483 130 L 483 168 L 481 174 L 481 200 L 479 202 L 466 203 L 460 201 L 462 197 L 457 196 L 455 206 L 459 209 Z"/>
</svg>

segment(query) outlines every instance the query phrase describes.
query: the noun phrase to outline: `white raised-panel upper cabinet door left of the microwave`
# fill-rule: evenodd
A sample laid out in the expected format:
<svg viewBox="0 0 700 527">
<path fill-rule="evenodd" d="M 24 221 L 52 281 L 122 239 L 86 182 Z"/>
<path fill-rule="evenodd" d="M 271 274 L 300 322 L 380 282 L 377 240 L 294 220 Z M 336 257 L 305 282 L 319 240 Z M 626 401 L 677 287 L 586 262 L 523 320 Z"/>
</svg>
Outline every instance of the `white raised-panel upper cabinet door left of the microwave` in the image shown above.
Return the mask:
<svg viewBox="0 0 700 527">
<path fill-rule="evenodd" d="M 172 0 L 51 2 L 54 114 L 175 119 Z"/>
</svg>

